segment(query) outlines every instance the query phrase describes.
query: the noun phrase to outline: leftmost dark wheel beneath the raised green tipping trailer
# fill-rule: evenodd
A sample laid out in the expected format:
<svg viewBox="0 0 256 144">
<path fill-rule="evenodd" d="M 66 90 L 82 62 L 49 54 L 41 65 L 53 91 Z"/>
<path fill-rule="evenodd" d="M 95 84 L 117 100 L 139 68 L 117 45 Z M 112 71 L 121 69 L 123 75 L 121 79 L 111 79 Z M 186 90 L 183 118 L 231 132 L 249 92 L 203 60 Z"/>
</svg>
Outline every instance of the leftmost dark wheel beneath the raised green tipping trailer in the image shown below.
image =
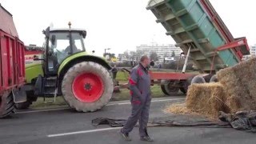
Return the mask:
<svg viewBox="0 0 256 144">
<path fill-rule="evenodd" d="M 166 95 L 174 95 L 178 94 L 178 87 L 173 86 L 174 82 L 173 81 L 167 81 L 167 80 L 162 80 L 161 81 L 161 89 L 162 92 Z"/>
</svg>

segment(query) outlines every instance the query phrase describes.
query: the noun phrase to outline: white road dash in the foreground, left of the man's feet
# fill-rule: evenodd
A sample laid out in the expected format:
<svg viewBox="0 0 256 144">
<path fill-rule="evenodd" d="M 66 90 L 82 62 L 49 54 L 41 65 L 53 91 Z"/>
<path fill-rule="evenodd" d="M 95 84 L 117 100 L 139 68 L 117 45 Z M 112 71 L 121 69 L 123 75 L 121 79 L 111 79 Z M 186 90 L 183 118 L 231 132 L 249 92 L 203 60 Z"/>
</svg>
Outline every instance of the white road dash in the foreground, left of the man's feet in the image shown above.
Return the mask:
<svg viewBox="0 0 256 144">
<path fill-rule="evenodd" d="M 62 133 L 62 134 L 50 134 L 50 135 L 47 135 L 47 137 L 53 138 L 53 137 L 61 137 L 61 136 L 73 135 L 73 134 L 86 134 L 86 133 L 94 133 L 94 132 L 98 132 L 98 131 L 119 130 L 121 128 L 122 127 L 110 127 L 110 128 L 106 128 L 106 129 L 83 130 L 83 131 L 75 131 L 75 132 Z"/>
</svg>

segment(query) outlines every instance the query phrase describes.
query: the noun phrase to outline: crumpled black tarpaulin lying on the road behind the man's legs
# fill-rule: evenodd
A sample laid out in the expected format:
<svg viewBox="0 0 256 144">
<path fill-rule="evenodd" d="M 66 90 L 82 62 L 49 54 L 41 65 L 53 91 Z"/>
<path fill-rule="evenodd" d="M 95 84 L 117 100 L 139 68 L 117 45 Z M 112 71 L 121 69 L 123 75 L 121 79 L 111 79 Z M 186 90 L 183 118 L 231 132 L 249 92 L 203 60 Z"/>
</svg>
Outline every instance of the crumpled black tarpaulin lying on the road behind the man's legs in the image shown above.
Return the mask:
<svg viewBox="0 0 256 144">
<path fill-rule="evenodd" d="M 234 128 L 235 130 L 246 130 L 248 132 L 256 132 L 256 111 L 239 111 L 235 114 L 219 113 L 219 122 L 212 122 L 208 120 L 190 121 L 188 120 L 155 120 L 148 123 L 149 127 L 154 126 L 194 126 L 206 128 Z M 115 118 L 95 118 L 92 120 L 94 126 L 109 125 L 112 127 L 122 127 L 126 123 L 125 119 Z"/>
</svg>

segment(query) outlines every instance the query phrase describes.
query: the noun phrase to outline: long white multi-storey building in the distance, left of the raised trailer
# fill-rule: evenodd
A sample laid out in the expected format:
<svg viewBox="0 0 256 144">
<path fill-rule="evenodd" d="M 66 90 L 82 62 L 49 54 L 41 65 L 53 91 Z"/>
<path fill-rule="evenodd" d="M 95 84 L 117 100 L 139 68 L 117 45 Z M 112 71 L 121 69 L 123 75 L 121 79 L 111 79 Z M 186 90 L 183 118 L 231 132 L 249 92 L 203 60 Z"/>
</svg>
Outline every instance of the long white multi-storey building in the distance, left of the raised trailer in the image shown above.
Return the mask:
<svg viewBox="0 0 256 144">
<path fill-rule="evenodd" d="M 182 53 L 182 50 L 171 44 L 158 45 L 157 43 L 152 43 L 150 45 L 136 46 L 136 54 L 146 54 L 150 56 L 152 53 L 158 54 L 158 60 L 163 62 L 164 58 L 179 56 Z"/>
</svg>

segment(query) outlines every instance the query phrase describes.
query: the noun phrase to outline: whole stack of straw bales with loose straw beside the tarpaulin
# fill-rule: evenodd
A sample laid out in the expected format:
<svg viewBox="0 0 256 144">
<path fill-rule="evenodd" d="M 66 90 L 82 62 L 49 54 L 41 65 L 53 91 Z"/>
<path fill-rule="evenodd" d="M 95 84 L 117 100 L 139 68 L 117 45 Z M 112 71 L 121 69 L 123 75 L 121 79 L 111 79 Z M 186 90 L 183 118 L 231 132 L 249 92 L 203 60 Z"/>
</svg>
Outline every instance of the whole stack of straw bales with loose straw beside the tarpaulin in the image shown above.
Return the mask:
<svg viewBox="0 0 256 144">
<path fill-rule="evenodd" d="M 219 111 L 234 113 L 239 110 L 256 110 L 256 58 L 220 70 L 218 81 L 193 84 L 186 96 L 186 109 L 170 106 L 171 113 L 191 111 L 217 118 Z"/>
</svg>

